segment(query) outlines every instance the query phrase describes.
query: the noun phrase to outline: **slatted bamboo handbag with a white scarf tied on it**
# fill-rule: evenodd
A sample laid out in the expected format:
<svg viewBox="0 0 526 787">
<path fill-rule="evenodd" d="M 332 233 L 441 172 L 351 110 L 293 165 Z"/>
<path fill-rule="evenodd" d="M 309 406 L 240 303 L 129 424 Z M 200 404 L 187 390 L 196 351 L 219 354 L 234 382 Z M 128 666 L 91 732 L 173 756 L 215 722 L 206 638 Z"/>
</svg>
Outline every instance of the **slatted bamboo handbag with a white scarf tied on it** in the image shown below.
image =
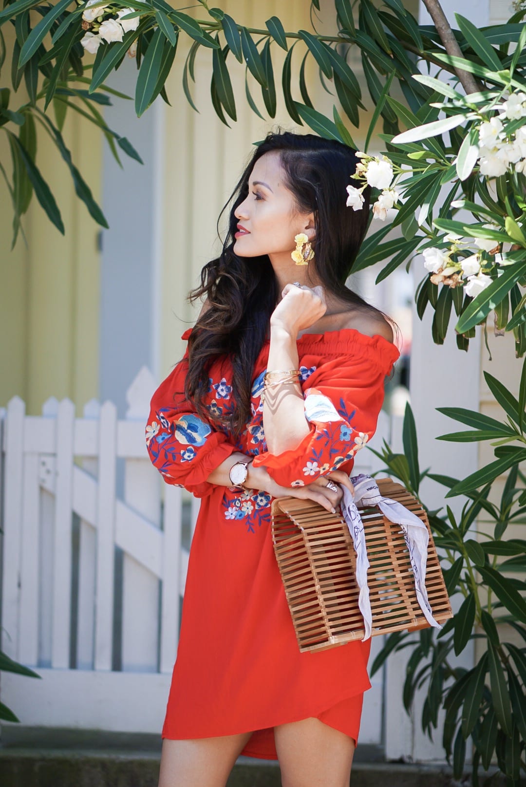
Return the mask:
<svg viewBox="0 0 526 787">
<path fill-rule="evenodd" d="M 417 499 L 391 478 L 376 479 L 383 497 L 398 501 L 428 530 L 425 585 L 433 617 L 453 617 L 428 518 Z M 369 558 L 371 635 L 429 626 L 420 608 L 409 549 L 400 526 L 377 505 L 358 506 Z M 313 501 L 282 497 L 272 503 L 272 541 L 300 651 L 345 645 L 365 637 L 358 608 L 356 554 L 346 520 Z"/>
</svg>

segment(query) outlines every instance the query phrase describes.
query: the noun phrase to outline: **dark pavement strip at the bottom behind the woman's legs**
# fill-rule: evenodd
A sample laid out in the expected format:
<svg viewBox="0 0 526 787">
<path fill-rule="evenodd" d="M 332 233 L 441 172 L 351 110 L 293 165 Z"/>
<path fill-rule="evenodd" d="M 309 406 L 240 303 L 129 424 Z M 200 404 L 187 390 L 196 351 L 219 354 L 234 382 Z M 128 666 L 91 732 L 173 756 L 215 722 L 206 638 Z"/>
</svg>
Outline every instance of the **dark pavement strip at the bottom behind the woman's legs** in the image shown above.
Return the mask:
<svg viewBox="0 0 526 787">
<path fill-rule="evenodd" d="M 102 730 L 49 730 L 4 725 L 0 733 L 0 787 L 157 787 L 158 735 Z M 483 785 L 484 778 L 480 779 Z M 492 787 L 504 785 L 492 780 Z M 454 787 L 443 764 L 385 762 L 382 750 L 358 746 L 351 787 Z M 525 782 L 526 784 L 526 782 Z M 240 757 L 228 787 L 280 787 L 274 761 Z"/>
</svg>

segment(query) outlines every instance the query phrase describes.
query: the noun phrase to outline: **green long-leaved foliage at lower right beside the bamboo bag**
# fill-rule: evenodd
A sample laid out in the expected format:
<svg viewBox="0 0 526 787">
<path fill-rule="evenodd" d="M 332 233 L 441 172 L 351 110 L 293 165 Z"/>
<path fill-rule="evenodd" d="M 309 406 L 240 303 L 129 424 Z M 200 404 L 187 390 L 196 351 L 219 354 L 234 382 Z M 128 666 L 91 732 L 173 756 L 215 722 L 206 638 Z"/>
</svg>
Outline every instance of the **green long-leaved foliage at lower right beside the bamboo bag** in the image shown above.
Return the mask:
<svg viewBox="0 0 526 787">
<path fill-rule="evenodd" d="M 506 403 L 505 411 L 510 416 L 510 423 L 513 423 L 512 415 L 517 422 L 517 400 L 502 384 L 494 386 L 492 393 L 499 404 Z M 490 431 L 491 437 L 497 435 L 500 438 L 502 430 L 507 432 L 505 424 L 480 413 L 461 408 L 439 410 L 450 418 L 476 427 L 470 433 L 474 440 L 479 439 L 476 435 L 480 427 Z M 415 497 L 418 497 L 424 478 L 439 482 L 450 490 L 459 488 L 461 482 L 456 478 L 434 475 L 429 469 L 420 471 L 413 424 L 413 413 L 408 404 L 403 424 L 404 454 L 394 453 L 387 442 L 384 442 L 381 452 L 369 447 L 386 464 L 379 472 L 398 478 Z M 451 437 L 443 435 L 443 438 Z M 411 473 L 409 465 L 413 465 Z M 446 587 L 457 612 L 438 632 L 425 629 L 417 634 L 400 631 L 390 634 L 371 669 L 374 674 L 392 652 L 410 648 L 402 689 L 404 707 L 408 713 L 411 712 L 417 689 L 424 693 L 420 721 L 422 730 L 429 737 L 439 726 L 439 710 L 443 709 L 442 742 L 453 765 L 454 778 L 462 778 L 470 748 L 474 785 L 478 784 L 479 765 L 487 770 L 495 758 L 510 785 L 519 784 L 520 770 L 524 770 L 526 583 L 517 579 L 517 572 L 526 571 L 526 540 L 504 538 L 509 523 L 526 522 L 526 500 L 521 499 L 524 497 L 524 482 L 526 477 L 520 471 L 519 462 L 515 462 L 509 470 L 499 504 L 488 500 L 491 490 L 491 482 L 488 482 L 478 492 L 475 488 L 465 490 L 467 500 L 459 517 L 454 516 L 449 506 L 443 514 L 440 513 L 442 509 L 430 512 L 418 498 L 428 511 Z M 483 512 L 486 522 L 494 522 L 492 537 L 473 530 L 473 523 L 480 512 Z M 501 640 L 499 632 L 502 633 L 502 627 L 498 624 L 504 623 L 510 623 L 520 635 L 522 647 L 513 641 Z M 482 655 L 474 667 L 465 670 L 457 666 L 455 656 L 460 656 L 474 639 L 479 641 Z"/>
</svg>

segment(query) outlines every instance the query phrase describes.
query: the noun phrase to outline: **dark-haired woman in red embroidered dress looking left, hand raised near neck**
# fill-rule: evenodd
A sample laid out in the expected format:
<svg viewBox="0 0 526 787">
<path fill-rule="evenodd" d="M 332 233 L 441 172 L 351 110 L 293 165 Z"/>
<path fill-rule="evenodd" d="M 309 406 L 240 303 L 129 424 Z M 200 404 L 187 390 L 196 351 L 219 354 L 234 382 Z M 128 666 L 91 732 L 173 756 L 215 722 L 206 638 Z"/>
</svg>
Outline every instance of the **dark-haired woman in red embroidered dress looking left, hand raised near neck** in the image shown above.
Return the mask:
<svg viewBox="0 0 526 787">
<path fill-rule="evenodd" d="M 224 787 L 242 753 L 279 759 L 285 787 L 349 784 L 370 644 L 299 652 L 269 526 L 273 497 L 334 511 L 353 491 L 399 354 L 345 286 L 369 218 L 369 187 L 346 207 L 356 164 L 314 135 L 257 146 L 187 352 L 152 398 L 151 460 L 202 498 L 159 787 Z"/>
</svg>

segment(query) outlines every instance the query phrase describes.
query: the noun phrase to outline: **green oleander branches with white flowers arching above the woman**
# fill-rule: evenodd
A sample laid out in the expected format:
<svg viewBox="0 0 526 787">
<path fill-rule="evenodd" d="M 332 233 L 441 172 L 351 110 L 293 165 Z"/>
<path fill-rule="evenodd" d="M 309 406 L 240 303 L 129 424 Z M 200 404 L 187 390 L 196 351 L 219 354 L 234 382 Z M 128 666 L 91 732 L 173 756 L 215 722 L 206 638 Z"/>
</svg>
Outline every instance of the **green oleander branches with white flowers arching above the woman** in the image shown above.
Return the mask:
<svg viewBox="0 0 526 787">
<path fill-rule="evenodd" d="M 272 57 L 276 49 L 272 48 L 272 44 L 279 46 L 287 52 L 281 70 L 281 91 L 285 109 L 294 123 L 305 124 L 319 135 L 354 146 L 347 126 L 353 124 L 358 127 L 361 111 L 368 105 L 372 106 L 365 150 L 372 135 L 380 131 L 386 153 L 397 171 L 406 170 L 406 176 L 397 185 L 402 201 L 398 203 L 398 212 L 391 226 L 410 227 L 410 231 L 403 231 L 402 238 L 387 240 L 369 249 L 364 245 L 354 262 L 353 271 L 384 260 L 385 265 L 376 279 L 380 282 L 399 265 L 409 267 L 414 255 L 424 249 L 446 251 L 446 234 L 450 232 L 468 241 L 472 238 L 495 241 L 495 249 L 491 252 L 476 252 L 479 253 L 483 272 L 491 278 L 491 283 L 489 279 L 484 280 L 485 289 L 473 286 L 468 295 L 465 294 L 465 277 L 456 283 L 442 277 L 444 283 L 420 286 L 417 313 L 421 319 L 426 309 L 433 310 L 432 338 L 443 344 L 452 329 L 451 312 L 454 309 L 457 346 L 468 349 L 473 329 L 477 324 L 485 326 L 487 316 L 495 311 L 498 327 L 513 331 L 517 356 L 520 357 L 526 352 L 526 295 L 522 290 L 526 285 L 526 176 L 524 172 L 514 172 L 513 166 L 496 179 L 480 172 L 479 127 L 483 121 L 495 116 L 496 108 L 509 91 L 526 90 L 526 58 L 520 56 L 526 43 L 526 25 L 522 24 L 524 14 L 517 13 L 509 24 L 483 30 L 457 14 L 459 29 L 456 35 L 462 57 L 453 57 L 444 51 L 435 29 L 419 25 L 399 0 L 386 0 L 380 7 L 369 0 L 359 3 L 357 9 L 353 9 L 353 5 L 349 0 L 335 0 L 336 35 L 317 35 L 316 31 L 309 30 L 286 31 L 276 16 L 266 21 L 264 30 L 254 30 L 246 27 L 243 20 L 235 20 L 224 13 L 223 9 L 209 9 L 206 4 L 202 4 L 202 8 L 206 9 L 209 17 L 197 19 L 173 9 L 165 0 L 154 0 L 151 5 L 137 0 L 131 2 L 131 6 L 128 4 L 135 9 L 128 18 L 139 17 L 138 27 L 124 33 L 122 42 L 100 44 L 90 79 L 84 76 L 89 66 L 83 65 L 85 50 L 80 44 L 83 6 L 70 10 L 67 0 L 59 0 L 47 7 L 39 6 L 42 18 L 31 28 L 29 9 L 35 8 L 36 2 L 8 2 L 0 12 L 0 26 L 14 24 L 17 42 L 12 53 L 12 91 L 4 88 L 0 101 L 0 128 L 9 135 L 17 136 L 22 148 L 27 150 L 22 139 L 24 125 L 28 116 L 35 112 L 37 103 L 44 98 L 44 112 L 50 105 L 54 106 L 57 129 L 61 131 L 66 110 L 79 109 L 76 92 L 68 97 L 65 90 L 71 86 L 73 91 L 77 91 L 76 83 L 85 80 L 91 122 L 102 128 L 117 161 L 115 140 L 121 150 L 139 161 L 138 154 L 130 150 L 129 143 L 105 127 L 94 108 L 96 91 L 113 69 L 120 67 L 131 46 L 137 47 L 139 72 L 135 110 L 138 115 L 144 113 L 158 95 L 168 101 L 165 81 L 174 62 L 176 47 L 180 45 L 188 47 L 182 72 L 183 91 L 196 111 L 191 96 L 191 81 L 195 79 L 194 61 L 198 51 L 211 50 L 210 97 L 217 116 L 227 125 L 227 118 L 234 122 L 237 118 L 236 96 L 230 75 L 232 58 L 229 60 L 228 54 L 232 52 L 235 60 L 245 67 L 245 97 L 250 108 L 264 117 L 254 101 L 249 75 L 261 89 L 267 116 L 272 118 L 276 115 L 277 102 L 275 58 Z M 124 7 L 124 3 L 117 0 L 112 6 L 102 9 L 102 16 L 114 17 L 119 7 Z M 356 10 L 357 18 L 354 17 Z M 94 32 L 96 34 L 97 25 Z M 49 35 L 52 46 L 48 50 L 46 42 Z M 361 84 L 347 62 L 351 46 L 360 50 L 368 98 L 362 97 Z M 296 47 L 299 50 L 294 52 Z M 510 47 L 514 50 L 511 51 Z M 6 57 L 5 47 L 0 47 L 0 54 L 2 59 Z M 294 86 L 291 85 L 293 57 L 298 58 L 301 102 L 294 98 Z M 333 106 L 332 117 L 324 116 L 313 105 L 306 78 L 309 59 L 316 64 L 324 87 L 328 83 L 334 87 L 338 105 Z M 437 62 L 443 64 L 448 83 L 422 73 L 424 69 L 420 65 Z M 457 89 L 456 68 L 463 68 L 476 76 L 480 90 L 465 97 L 463 91 Z M 30 101 L 13 111 L 9 109 L 9 96 L 11 92 L 16 93 L 22 79 Z M 401 89 L 405 102 L 391 96 L 395 85 Z M 446 116 L 439 118 L 441 110 Z M 383 128 L 379 129 L 379 124 Z M 506 126 L 508 140 L 521 125 L 519 117 Z M 43 183 L 35 163 L 36 149 L 34 154 L 28 151 L 24 157 L 17 143 L 11 142 L 10 146 L 12 176 L 9 179 L 5 167 L 2 167 L 2 174 L 8 180 L 13 200 L 13 243 L 33 193 L 50 220 L 63 231 L 60 212 L 54 204 L 50 187 Z M 79 182 L 76 176 L 76 183 Z M 442 187 L 447 184 L 450 194 L 440 202 Z M 104 226 L 100 209 L 94 209 L 85 190 L 77 190 L 77 193 L 86 202 L 94 219 Z M 459 193 L 461 198 L 455 201 Z M 458 220 L 457 211 L 461 209 L 471 212 L 472 218 Z M 465 248 L 469 243 L 464 243 L 464 246 L 462 243 L 450 247 L 450 264 L 459 273 L 462 260 L 469 256 L 469 250 Z M 500 254 L 500 261 L 495 253 Z"/>
</svg>

